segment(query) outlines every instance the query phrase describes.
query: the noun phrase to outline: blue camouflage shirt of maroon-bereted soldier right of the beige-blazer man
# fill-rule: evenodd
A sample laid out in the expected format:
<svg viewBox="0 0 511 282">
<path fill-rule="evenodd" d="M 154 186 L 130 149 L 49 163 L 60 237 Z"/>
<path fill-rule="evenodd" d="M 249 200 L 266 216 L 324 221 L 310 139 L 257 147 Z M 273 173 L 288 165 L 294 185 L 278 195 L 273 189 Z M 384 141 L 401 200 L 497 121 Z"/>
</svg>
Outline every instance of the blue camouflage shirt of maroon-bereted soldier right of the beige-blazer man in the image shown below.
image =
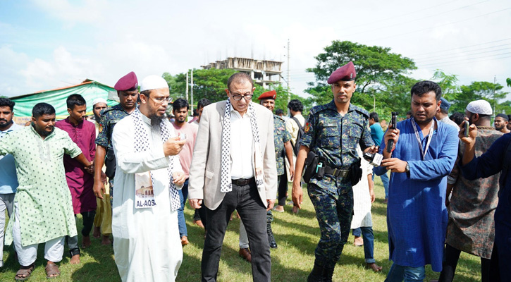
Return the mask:
<svg viewBox="0 0 511 282">
<path fill-rule="evenodd" d="M 332 100 L 311 109 L 300 145 L 325 157 L 331 168 L 347 169 L 357 160 L 357 143 L 362 150 L 374 145 L 368 124 L 366 110 L 350 104 L 341 116 Z"/>
</svg>

